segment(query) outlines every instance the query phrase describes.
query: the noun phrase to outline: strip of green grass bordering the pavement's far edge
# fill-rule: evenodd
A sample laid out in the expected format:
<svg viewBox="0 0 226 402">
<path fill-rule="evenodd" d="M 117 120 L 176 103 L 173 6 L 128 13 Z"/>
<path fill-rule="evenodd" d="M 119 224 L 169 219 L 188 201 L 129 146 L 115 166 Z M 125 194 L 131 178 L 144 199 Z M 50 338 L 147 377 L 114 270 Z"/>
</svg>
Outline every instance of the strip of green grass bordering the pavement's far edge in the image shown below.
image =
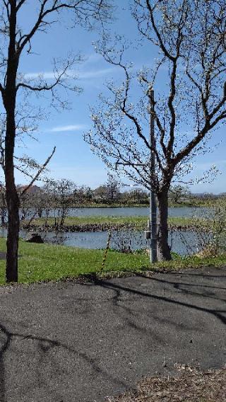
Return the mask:
<svg viewBox="0 0 226 402">
<path fill-rule="evenodd" d="M 0 250 L 6 251 L 6 239 L 0 238 Z M 20 241 L 18 259 L 18 282 L 32 283 L 57 281 L 78 277 L 90 272 L 100 272 L 102 250 L 87 250 L 49 244 L 34 244 Z M 214 265 L 226 265 L 226 255 L 201 258 L 197 256 L 176 257 L 172 261 L 150 266 L 148 255 L 124 254 L 109 251 L 103 275 L 120 276 L 123 272 L 143 272 L 146 270 L 183 270 Z M 0 285 L 5 284 L 5 261 L 0 260 Z"/>
</svg>

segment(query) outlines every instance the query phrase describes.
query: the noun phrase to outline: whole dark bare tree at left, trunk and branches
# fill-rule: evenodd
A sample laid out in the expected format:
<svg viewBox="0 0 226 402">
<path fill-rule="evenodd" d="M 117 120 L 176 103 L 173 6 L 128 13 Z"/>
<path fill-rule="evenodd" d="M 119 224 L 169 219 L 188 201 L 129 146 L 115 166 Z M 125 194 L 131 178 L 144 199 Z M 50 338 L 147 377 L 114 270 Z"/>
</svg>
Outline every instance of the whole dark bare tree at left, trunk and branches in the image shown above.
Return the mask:
<svg viewBox="0 0 226 402">
<path fill-rule="evenodd" d="M 22 27 L 20 16 L 26 13 L 26 0 L 4 0 L 0 12 L 0 92 L 6 115 L 6 137 L 4 150 L 6 202 L 8 207 L 8 236 L 6 256 L 6 281 L 18 280 L 18 231 L 19 198 L 14 179 L 14 148 L 16 140 L 16 107 L 21 91 L 29 96 L 30 92 L 51 93 L 54 103 L 63 106 L 64 100 L 56 92 L 57 86 L 78 91 L 73 82 L 73 64 L 81 57 L 68 57 L 59 63 L 54 60 L 54 80 L 49 84 L 43 76 L 38 79 L 25 78 L 20 73 L 21 56 L 32 55 L 32 40 L 39 33 L 47 33 L 66 11 L 71 13 L 73 25 L 90 28 L 92 21 L 106 21 L 109 18 L 108 0 L 36 0 L 34 20 L 30 28 Z"/>
</svg>

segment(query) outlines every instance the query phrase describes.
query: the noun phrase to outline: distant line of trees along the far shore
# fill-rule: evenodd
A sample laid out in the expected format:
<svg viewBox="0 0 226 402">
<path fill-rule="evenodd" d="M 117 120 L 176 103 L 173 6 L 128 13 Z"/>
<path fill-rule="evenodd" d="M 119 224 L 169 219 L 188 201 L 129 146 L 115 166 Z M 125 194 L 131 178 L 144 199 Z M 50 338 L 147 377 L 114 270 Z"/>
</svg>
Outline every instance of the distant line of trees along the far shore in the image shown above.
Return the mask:
<svg viewBox="0 0 226 402">
<path fill-rule="evenodd" d="M 59 224 L 71 207 L 95 206 L 148 206 L 149 193 L 143 188 L 133 187 L 125 190 L 120 183 L 109 176 L 106 183 L 92 189 L 86 185 L 76 185 L 68 179 L 47 180 L 42 186 L 32 185 L 25 190 L 25 186 L 18 185 L 20 196 L 20 219 L 34 217 L 48 217 L 50 211 L 55 210 Z M 23 195 L 22 195 L 23 193 Z M 193 194 L 186 186 L 174 185 L 169 192 L 169 206 L 202 206 L 207 200 L 225 198 L 226 193 L 214 195 L 212 193 Z M 1 223 L 6 223 L 6 199 L 4 186 L 0 188 Z M 32 219 L 33 219 L 32 218 Z"/>
</svg>

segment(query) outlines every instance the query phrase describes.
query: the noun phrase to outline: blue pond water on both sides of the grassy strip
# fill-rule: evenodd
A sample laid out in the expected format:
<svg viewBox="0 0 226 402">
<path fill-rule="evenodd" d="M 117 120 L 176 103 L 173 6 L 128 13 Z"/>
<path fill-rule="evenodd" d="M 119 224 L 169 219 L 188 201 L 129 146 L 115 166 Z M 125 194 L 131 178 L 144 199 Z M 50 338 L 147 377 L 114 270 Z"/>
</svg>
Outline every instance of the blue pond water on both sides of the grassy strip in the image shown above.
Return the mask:
<svg viewBox="0 0 226 402">
<path fill-rule="evenodd" d="M 52 214 L 54 211 L 52 211 Z M 69 216 L 87 217 L 87 216 L 146 216 L 148 218 L 148 207 L 121 207 L 121 208 L 71 208 Z M 169 208 L 169 217 L 203 217 L 210 214 L 208 208 L 192 207 L 174 207 Z M 1 236 L 6 236 L 6 230 L 1 229 Z M 73 246 L 79 248 L 105 248 L 107 244 L 107 232 L 67 232 L 55 234 L 54 232 L 42 234 L 44 241 L 48 243 L 57 243 L 64 246 Z M 197 234 L 195 231 L 169 231 L 169 245 L 172 251 L 181 255 L 196 253 L 201 250 L 200 236 L 209 236 L 207 234 Z M 28 238 L 28 232 L 20 231 L 20 237 Z M 111 248 L 128 248 L 132 250 L 148 248 L 148 241 L 145 240 L 143 231 L 113 231 Z"/>
</svg>

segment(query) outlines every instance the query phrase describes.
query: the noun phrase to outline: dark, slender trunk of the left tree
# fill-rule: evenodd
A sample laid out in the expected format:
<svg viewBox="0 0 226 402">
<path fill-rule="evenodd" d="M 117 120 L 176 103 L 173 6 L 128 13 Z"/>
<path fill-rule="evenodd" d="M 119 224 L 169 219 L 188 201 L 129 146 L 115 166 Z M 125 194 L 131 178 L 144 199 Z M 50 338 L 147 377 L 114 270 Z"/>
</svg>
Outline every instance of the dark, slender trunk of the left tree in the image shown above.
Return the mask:
<svg viewBox="0 0 226 402">
<path fill-rule="evenodd" d="M 8 234 L 6 255 L 6 282 L 18 281 L 19 199 L 14 179 L 13 154 L 16 137 L 16 0 L 10 1 L 8 64 L 3 101 L 6 109 L 5 179 L 8 208 Z"/>
</svg>

